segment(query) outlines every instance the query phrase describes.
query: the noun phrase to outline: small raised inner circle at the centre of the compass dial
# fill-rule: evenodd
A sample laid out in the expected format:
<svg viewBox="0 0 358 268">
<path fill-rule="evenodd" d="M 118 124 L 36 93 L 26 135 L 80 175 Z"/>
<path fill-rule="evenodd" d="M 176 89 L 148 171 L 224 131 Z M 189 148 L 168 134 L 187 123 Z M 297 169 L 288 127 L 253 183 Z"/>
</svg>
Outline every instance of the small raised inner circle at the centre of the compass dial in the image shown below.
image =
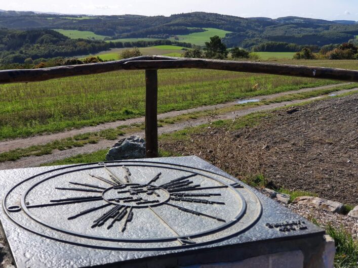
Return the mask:
<svg viewBox="0 0 358 268">
<path fill-rule="evenodd" d="M 114 205 L 148 207 L 162 204 L 170 198 L 168 191 L 154 185 L 124 184 L 107 188 L 103 199 Z"/>
</svg>

